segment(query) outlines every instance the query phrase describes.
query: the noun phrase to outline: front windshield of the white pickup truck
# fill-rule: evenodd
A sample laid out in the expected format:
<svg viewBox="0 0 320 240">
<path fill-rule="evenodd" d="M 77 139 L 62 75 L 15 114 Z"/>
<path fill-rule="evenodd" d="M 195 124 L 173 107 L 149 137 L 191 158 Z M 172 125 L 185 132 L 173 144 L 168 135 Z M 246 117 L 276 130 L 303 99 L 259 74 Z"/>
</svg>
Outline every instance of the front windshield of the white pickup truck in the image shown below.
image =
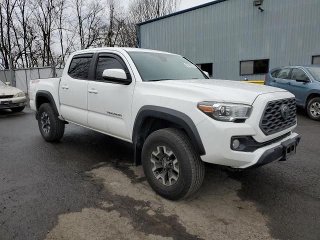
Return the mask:
<svg viewBox="0 0 320 240">
<path fill-rule="evenodd" d="M 196 65 L 179 55 L 141 51 L 128 53 L 143 81 L 208 78 Z"/>
</svg>

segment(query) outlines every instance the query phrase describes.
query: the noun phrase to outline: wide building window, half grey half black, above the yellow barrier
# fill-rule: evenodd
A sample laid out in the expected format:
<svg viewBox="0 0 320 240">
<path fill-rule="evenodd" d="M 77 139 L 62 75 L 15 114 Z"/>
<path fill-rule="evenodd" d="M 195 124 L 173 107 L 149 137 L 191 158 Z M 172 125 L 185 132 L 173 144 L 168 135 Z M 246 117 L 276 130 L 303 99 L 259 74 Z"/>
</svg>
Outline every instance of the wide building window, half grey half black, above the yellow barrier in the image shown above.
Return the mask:
<svg viewBox="0 0 320 240">
<path fill-rule="evenodd" d="M 240 75 L 265 74 L 269 71 L 269 59 L 240 61 Z"/>
</svg>

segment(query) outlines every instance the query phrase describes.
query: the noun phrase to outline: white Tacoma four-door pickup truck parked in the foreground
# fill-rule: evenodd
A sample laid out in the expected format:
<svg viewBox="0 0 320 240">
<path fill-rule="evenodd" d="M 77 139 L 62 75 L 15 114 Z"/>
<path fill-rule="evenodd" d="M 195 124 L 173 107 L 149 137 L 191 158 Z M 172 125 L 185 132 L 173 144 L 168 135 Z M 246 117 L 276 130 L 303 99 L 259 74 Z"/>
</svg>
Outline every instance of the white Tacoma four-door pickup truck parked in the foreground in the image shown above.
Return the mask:
<svg viewBox="0 0 320 240">
<path fill-rule="evenodd" d="M 204 162 L 253 168 L 295 154 L 294 95 L 210 79 L 183 56 L 140 48 L 80 50 L 62 77 L 31 80 L 41 135 L 71 122 L 134 144 L 150 186 L 180 199 L 202 183 Z"/>
</svg>

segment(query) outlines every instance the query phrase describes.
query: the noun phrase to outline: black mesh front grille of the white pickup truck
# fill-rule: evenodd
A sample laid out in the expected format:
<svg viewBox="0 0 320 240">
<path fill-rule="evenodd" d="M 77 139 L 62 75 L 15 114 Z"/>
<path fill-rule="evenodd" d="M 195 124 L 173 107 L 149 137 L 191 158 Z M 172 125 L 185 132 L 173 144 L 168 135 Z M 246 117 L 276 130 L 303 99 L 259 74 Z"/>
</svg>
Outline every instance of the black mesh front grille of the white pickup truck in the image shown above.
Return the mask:
<svg viewBox="0 0 320 240">
<path fill-rule="evenodd" d="M 283 107 L 288 106 L 288 114 L 282 113 Z M 283 116 L 284 115 L 284 116 Z M 296 124 L 295 98 L 269 101 L 260 120 L 260 129 L 265 135 L 270 135 Z"/>
</svg>

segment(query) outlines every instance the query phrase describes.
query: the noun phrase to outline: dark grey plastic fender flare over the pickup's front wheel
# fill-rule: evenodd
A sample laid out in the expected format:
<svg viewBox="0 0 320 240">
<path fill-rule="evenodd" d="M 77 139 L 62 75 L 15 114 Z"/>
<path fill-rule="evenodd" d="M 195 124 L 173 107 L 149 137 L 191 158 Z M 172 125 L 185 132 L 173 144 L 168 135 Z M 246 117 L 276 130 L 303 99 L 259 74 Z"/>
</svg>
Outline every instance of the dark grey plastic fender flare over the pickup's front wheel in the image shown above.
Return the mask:
<svg viewBox="0 0 320 240">
<path fill-rule="evenodd" d="M 190 137 L 190 140 L 199 155 L 205 154 L 199 132 L 188 115 L 177 110 L 154 105 L 142 106 L 136 114 L 132 131 L 132 142 L 134 145 L 137 143 L 141 124 L 146 117 L 156 117 L 180 125 Z"/>
</svg>

